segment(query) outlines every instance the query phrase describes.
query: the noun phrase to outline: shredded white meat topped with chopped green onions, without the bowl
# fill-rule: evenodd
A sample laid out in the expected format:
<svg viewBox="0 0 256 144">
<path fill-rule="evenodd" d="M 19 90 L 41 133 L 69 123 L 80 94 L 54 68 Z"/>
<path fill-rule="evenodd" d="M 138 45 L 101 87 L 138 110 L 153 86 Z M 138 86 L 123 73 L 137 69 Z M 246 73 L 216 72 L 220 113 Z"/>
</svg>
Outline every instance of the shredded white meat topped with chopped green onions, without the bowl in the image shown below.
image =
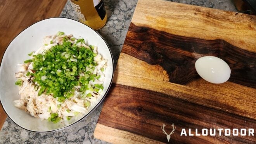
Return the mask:
<svg viewBox="0 0 256 144">
<path fill-rule="evenodd" d="M 58 32 L 20 64 L 14 105 L 31 116 L 57 123 L 87 109 L 103 93 L 107 60 L 83 38 Z"/>
</svg>

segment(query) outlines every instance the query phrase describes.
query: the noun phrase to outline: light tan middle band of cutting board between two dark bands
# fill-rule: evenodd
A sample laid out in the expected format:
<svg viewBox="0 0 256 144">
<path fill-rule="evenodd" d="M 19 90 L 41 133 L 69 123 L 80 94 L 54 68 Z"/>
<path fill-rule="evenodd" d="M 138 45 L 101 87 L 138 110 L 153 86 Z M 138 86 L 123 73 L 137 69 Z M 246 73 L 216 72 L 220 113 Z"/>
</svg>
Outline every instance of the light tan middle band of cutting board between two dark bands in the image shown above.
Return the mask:
<svg viewBox="0 0 256 144">
<path fill-rule="evenodd" d="M 193 81 L 188 86 L 183 86 L 163 81 L 166 72 L 161 69 L 157 71 L 154 68 L 157 67 L 155 65 L 151 65 L 151 67 L 152 69 L 150 69 L 150 64 L 122 52 L 119 56 L 113 82 L 156 91 L 199 105 L 256 119 L 256 89 L 254 88 L 232 82 L 211 84 L 202 79 Z"/>
</svg>

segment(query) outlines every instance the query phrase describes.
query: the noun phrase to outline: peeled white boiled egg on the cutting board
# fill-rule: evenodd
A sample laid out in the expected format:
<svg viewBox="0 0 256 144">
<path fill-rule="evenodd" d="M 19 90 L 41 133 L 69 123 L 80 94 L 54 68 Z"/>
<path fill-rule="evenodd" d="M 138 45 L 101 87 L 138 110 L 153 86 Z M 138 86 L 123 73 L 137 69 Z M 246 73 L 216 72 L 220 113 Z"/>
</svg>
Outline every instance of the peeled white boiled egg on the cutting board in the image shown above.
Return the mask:
<svg viewBox="0 0 256 144">
<path fill-rule="evenodd" d="M 230 77 L 230 67 L 228 64 L 213 56 L 198 58 L 195 62 L 195 70 L 206 81 L 221 84 L 228 81 Z"/>
</svg>

